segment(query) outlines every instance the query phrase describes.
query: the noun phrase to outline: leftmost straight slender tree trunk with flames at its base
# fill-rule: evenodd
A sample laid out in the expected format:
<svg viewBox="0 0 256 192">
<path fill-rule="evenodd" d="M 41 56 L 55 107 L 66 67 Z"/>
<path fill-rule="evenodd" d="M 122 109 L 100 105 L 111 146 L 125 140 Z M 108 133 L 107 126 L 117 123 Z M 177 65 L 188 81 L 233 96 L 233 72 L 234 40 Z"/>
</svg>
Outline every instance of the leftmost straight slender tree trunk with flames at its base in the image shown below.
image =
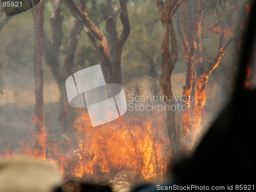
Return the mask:
<svg viewBox="0 0 256 192">
<path fill-rule="evenodd" d="M 45 1 L 33 8 L 34 18 L 34 73 L 35 73 L 35 126 L 36 143 L 34 152 L 37 157 L 46 158 L 46 127 L 42 75 L 42 49 L 44 40 L 44 8 Z"/>
</svg>

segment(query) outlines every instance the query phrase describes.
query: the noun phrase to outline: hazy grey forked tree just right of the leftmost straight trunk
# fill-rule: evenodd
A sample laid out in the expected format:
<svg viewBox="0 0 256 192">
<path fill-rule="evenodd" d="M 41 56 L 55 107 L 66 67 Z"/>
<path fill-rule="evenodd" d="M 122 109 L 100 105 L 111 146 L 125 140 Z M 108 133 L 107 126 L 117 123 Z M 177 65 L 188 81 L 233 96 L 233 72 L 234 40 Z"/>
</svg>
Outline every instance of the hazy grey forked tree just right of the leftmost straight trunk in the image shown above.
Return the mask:
<svg viewBox="0 0 256 192">
<path fill-rule="evenodd" d="M 75 108 L 69 108 L 67 93 L 66 93 L 66 79 L 72 75 L 74 66 L 75 52 L 77 49 L 78 40 L 81 35 L 83 23 L 79 18 L 75 19 L 75 24 L 69 36 L 69 43 L 66 51 L 64 64 L 61 66 L 59 62 L 59 50 L 62 42 L 62 23 L 63 16 L 61 15 L 61 1 L 56 1 L 56 9 L 53 16 L 50 18 L 52 25 L 52 38 L 49 40 L 46 36 L 44 38 L 44 52 L 47 65 L 51 68 L 53 76 L 58 84 L 60 91 L 60 114 L 59 121 L 62 125 L 62 130 L 67 131 L 72 127 L 75 120 Z M 76 13 L 71 12 L 72 15 Z M 75 15 L 78 17 L 77 15 Z M 70 115 L 72 114 L 72 115 Z"/>
</svg>

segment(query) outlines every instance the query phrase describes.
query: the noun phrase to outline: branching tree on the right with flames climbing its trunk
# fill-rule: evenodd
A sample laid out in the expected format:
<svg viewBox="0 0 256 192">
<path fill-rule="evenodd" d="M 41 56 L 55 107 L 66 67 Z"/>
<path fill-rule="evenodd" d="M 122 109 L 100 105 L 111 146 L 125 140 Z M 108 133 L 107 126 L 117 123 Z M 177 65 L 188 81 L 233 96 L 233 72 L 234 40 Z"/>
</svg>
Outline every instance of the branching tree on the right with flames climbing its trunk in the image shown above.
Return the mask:
<svg viewBox="0 0 256 192">
<path fill-rule="evenodd" d="M 236 6 L 239 7 L 239 4 Z M 228 4 L 223 6 L 223 11 L 220 11 L 221 14 L 218 13 L 216 17 L 217 21 L 207 27 L 204 25 L 205 10 L 201 10 L 200 0 L 186 1 L 182 6 L 181 15 L 179 15 L 178 28 L 181 35 L 181 48 L 187 65 L 186 83 L 183 87 L 183 96 L 187 98 L 184 101 L 187 111 L 183 112 L 183 127 L 189 143 L 188 151 L 193 149 L 205 122 L 204 106 L 207 99 L 205 90 L 209 75 L 218 67 L 229 44 L 238 38 L 235 34 L 227 35 L 231 25 L 227 25 L 225 28 L 224 25 L 221 25 L 225 16 L 236 6 L 229 7 Z M 219 35 L 218 52 L 214 58 L 207 55 L 206 47 L 203 45 L 203 39 L 212 30 Z M 193 97 L 193 100 L 190 100 L 190 97 Z"/>
</svg>

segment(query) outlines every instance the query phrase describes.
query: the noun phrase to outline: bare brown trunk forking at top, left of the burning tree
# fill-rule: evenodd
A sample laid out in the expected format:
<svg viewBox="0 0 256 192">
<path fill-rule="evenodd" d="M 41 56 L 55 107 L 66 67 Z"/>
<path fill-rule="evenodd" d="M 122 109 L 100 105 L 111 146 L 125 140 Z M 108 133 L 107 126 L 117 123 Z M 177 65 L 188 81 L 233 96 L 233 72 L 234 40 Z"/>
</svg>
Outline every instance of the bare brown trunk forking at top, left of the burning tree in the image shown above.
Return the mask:
<svg viewBox="0 0 256 192">
<path fill-rule="evenodd" d="M 182 3 L 182 1 L 180 2 Z M 165 104 L 168 107 L 167 111 L 167 132 L 172 148 L 172 156 L 174 161 L 179 161 L 182 158 L 182 150 L 180 145 L 180 139 L 176 131 L 175 124 L 175 111 L 172 109 L 172 105 L 175 105 L 173 100 L 168 98 L 173 97 L 171 76 L 175 67 L 175 63 L 178 59 L 178 47 L 177 40 L 173 27 L 172 15 L 174 15 L 178 6 L 180 5 L 178 0 L 165 1 L 165 5 L 162 0 L 157 1 L 159 12 L 161 15 L 163 25 L 163 41 L 162 41 L 162 73 L 161 73 L 161 87 L 163 89 L 163 95 L 167 96 Z M 169 46 L 169 42 L 170 45 Z M 169 52 L 171 47 L 172 52 Z"/>
</svg>

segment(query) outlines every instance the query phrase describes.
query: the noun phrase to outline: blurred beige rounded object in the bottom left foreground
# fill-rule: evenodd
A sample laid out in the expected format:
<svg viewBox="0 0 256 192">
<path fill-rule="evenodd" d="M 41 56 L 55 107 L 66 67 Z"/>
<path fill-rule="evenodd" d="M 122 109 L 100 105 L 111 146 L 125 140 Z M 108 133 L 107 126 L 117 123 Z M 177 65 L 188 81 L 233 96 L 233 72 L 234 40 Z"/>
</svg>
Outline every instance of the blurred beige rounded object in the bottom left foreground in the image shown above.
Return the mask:
<svg viewBox="0 0 256 192">
<path fill-rule="evenodd" d="M 1 192 L 53 192 L 61 185 L 58 167 L 50 162 L 30 158 L 0 161 Z"/>
</svg>

